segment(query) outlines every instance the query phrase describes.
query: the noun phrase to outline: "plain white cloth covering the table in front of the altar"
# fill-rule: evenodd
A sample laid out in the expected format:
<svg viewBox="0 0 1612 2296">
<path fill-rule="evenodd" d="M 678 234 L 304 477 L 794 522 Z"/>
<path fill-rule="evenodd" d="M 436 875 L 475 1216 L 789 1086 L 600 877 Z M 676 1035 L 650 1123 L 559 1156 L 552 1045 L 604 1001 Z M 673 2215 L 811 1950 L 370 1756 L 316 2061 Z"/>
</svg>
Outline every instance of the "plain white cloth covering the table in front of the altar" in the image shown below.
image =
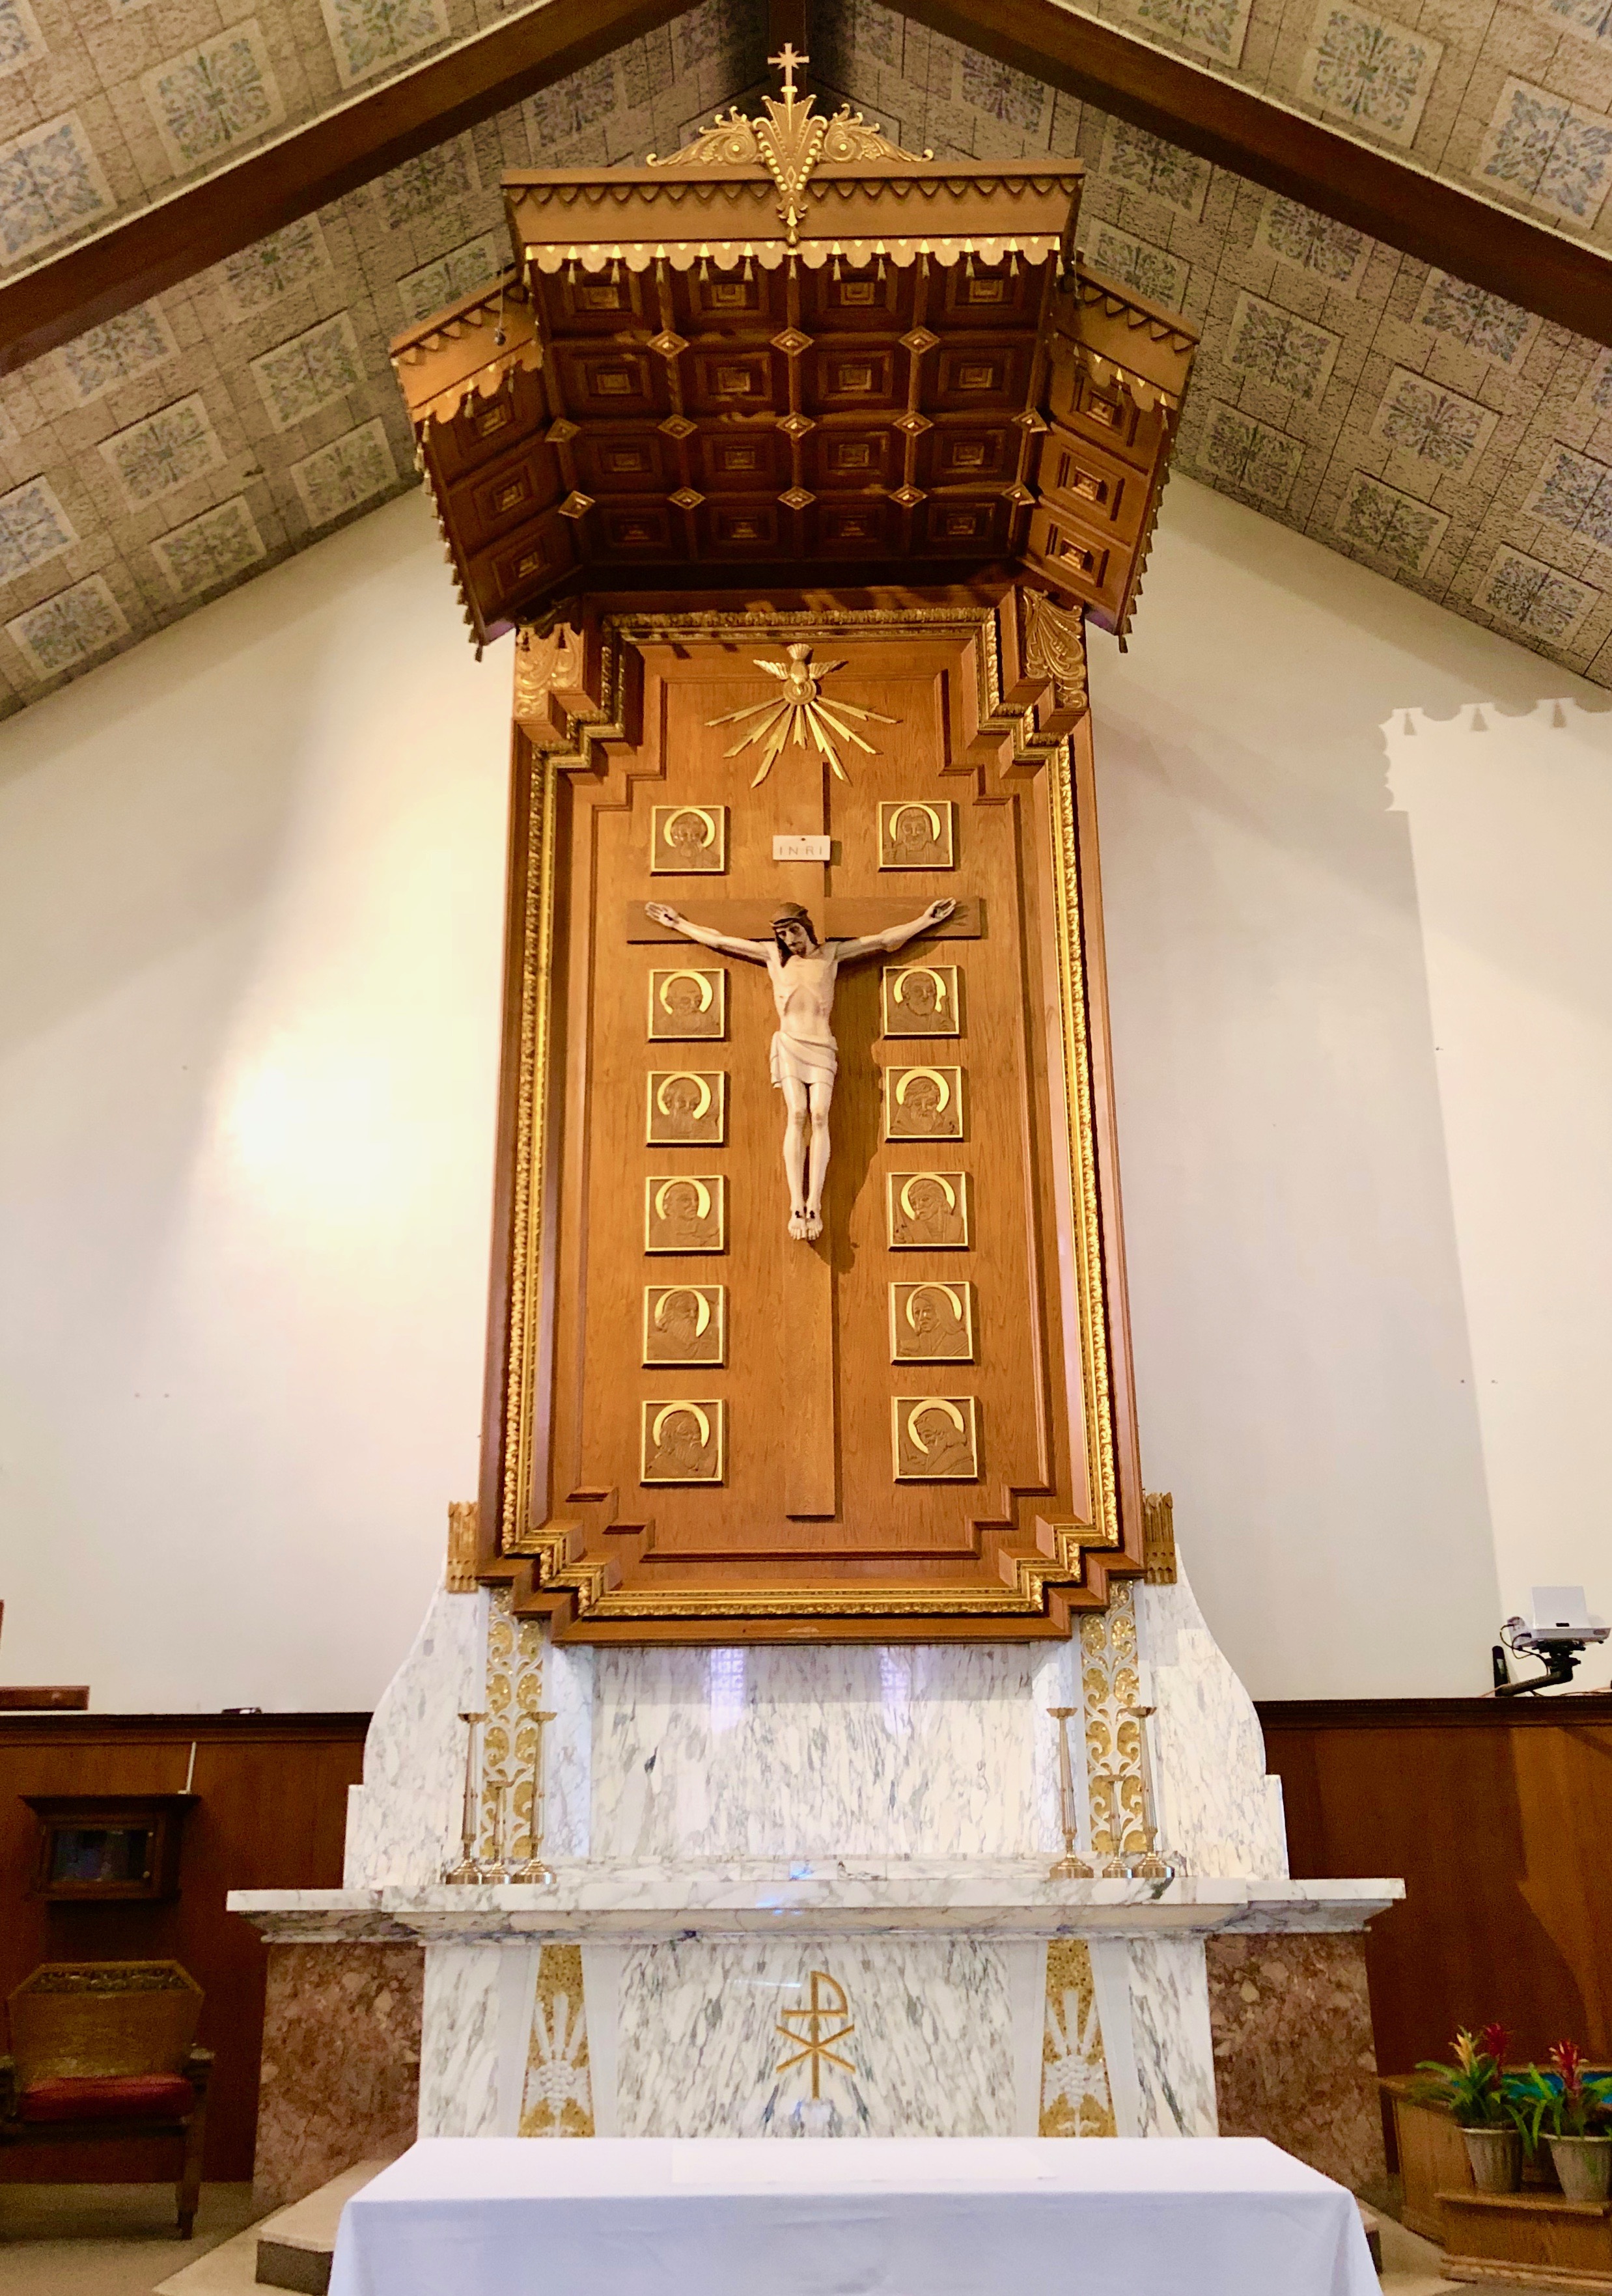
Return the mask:
<svg viewBox="0 0 1612 2296">
<path fill-rule="evenodd" d="M 331 2296 L 1378 2296 L 1343 2186 L 1263 2138 L 432 2138 Z"/>
</svg>

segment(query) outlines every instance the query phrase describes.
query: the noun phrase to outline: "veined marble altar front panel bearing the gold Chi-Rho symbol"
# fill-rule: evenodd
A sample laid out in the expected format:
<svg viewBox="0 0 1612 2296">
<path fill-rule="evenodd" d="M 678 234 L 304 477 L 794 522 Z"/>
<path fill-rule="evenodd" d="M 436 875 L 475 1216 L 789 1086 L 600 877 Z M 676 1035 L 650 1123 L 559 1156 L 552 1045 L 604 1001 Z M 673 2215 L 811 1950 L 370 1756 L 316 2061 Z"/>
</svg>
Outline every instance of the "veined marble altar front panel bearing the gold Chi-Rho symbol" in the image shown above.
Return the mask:
<svg viewBox="0 0 1612 2296">
<path fill-rule="evenodd" d="M 964 1938 L 790 1938 L 627 1954 L 625 2138 L 1006 2138 L 1020 2131 L 1013 1947 Z M 1017 1952 L 1024 1952 L 1020 1947 Z M 811 1977 L 820 2002 L 813 2101 Z M 785 2016 L 795 2011 L 795 2016 Z M 797 2062 L 790 2062 L 797 2060 Z M 834 2062 L 843 2060 L 843 2062 Z"/>
</svg>

